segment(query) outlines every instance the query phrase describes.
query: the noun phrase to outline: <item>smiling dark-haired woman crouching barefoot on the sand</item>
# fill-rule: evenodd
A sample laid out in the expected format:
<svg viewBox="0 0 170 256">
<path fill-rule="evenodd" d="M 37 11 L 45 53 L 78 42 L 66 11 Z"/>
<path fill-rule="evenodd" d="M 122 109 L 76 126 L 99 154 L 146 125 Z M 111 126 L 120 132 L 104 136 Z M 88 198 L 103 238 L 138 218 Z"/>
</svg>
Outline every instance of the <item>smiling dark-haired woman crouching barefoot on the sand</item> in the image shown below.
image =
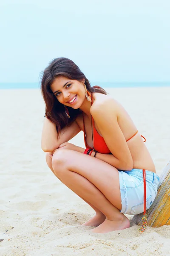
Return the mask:
<svg viewBox="0 0 170 256">
<path fill-rule="evenodd" d="M 135 215 L 148 209 L 159 183 L 130 116 L 101 87 L 91 87 L 68 58 L 49 64 L 41 90 L 46 106 L 42 150 L 54 175 L 96 212 L 84 225 L 95 227 L 95 233 L 130 227 L 124 213 Z M 86 149 L 68 143 L 80 131 L 84 131 Z"/>
</svg>

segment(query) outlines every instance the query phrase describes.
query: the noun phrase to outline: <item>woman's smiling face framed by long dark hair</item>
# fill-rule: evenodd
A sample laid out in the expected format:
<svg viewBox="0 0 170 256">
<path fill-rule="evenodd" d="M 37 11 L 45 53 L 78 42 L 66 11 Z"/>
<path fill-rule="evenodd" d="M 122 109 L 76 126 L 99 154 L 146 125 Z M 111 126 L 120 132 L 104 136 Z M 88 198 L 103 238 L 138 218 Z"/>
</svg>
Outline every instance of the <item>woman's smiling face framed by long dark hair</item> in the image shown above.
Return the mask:
<svg viewBox="0 0 170 256">
<path fill-rule="evenodd" d="M 85 87 L 82 81 L 72 80 L 65 76 L 57 76 L 51 84 L 51 90 L 57 100 L 65 106 L 77 109 L 85 100 Z"/>
</svg>

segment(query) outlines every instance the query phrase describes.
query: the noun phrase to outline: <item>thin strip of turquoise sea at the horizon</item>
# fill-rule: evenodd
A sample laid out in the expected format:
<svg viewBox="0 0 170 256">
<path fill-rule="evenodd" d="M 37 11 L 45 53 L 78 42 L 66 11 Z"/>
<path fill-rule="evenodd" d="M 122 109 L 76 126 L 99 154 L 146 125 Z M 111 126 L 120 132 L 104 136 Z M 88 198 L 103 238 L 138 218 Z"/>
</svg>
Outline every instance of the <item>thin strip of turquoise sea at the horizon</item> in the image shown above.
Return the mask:
<svg viewBox="0 0 170 256">
<path fill-rule="evenodd" d="M 103 88 L 123 87 L 169 87 L 169 82 L 91 82 L 91 86 L 99 85 Z M 0 89 L 40 89 L 39 83 L 0 83 Z"/>
</svg>

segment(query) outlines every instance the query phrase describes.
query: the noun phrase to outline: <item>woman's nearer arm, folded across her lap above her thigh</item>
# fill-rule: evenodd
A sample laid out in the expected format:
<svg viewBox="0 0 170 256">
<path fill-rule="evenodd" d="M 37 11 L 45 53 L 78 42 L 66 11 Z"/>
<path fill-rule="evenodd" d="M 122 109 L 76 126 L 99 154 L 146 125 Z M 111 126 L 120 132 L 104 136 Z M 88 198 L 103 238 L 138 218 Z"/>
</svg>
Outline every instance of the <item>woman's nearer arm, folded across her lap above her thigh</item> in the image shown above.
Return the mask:
<svg viewBox="0 0 170 256">
<path fill-rule="evenodd" d="M 125 137 L 118 124 L 117 105 L 113 99 L 92 106 L 91 114 L 102 133 L 111 154 L 96 154 L 99 158 L 119 170 L 129 171 L 133 168 L 133 159 Z M 91 154 L 94 156 L 94 152 Z"/>
</svg>

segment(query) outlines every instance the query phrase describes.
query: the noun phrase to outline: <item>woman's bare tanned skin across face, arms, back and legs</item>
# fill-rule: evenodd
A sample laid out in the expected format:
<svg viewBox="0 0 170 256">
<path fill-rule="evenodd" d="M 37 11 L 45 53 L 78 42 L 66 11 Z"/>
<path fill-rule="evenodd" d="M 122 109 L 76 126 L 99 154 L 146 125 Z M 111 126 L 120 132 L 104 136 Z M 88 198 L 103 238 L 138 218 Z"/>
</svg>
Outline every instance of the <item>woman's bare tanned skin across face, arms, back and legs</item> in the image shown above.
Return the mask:
<svg viewBox="0 0 170 256">
<path fill-rule="evenodd" d="M 63 87 L 66 82 L 69 83 Z M 96 211 L 96 215 L 84 225 L 98 226 L 93 229 L 94 233 L 122 230 L 130 227 L 130 222 L 120 213 L 122 204 L 118 169 L 139 168 L 155 172 L 155 166 L 140 133 L 126 142 L 137 128 L 122 105 L 108 95 L 93 93 L 91 106 L 91 102 L 85 97 L 83 83 L 83 79 L 77 81 L 58 76 L 51 85 L 51 90 L 55 95 L 57 91 L 56 97 L 60 103 L 80 108 L 85 113 L 86 140 L 91 147 L 91 115 L 93 116 L 96 130 L 104 137 L 112 154 L 97 153 L 94 158 L 94 152 L 88 156 L 83 154 L 85 148 L 67 143 L 83 130 L 82 115 L 70 127 L 62 130 L 59 140 L 55 125 L 46 119 L 42 131 L 42 149 L 49 152 L 46 160 L 54 175 Z M 71 105 L 68 101 L 75 95 L 77 99 Z M 49 134 L 47 135 L 49 127 L 52 127 L 49 133 L 50 145 Z"/>
</svg>

